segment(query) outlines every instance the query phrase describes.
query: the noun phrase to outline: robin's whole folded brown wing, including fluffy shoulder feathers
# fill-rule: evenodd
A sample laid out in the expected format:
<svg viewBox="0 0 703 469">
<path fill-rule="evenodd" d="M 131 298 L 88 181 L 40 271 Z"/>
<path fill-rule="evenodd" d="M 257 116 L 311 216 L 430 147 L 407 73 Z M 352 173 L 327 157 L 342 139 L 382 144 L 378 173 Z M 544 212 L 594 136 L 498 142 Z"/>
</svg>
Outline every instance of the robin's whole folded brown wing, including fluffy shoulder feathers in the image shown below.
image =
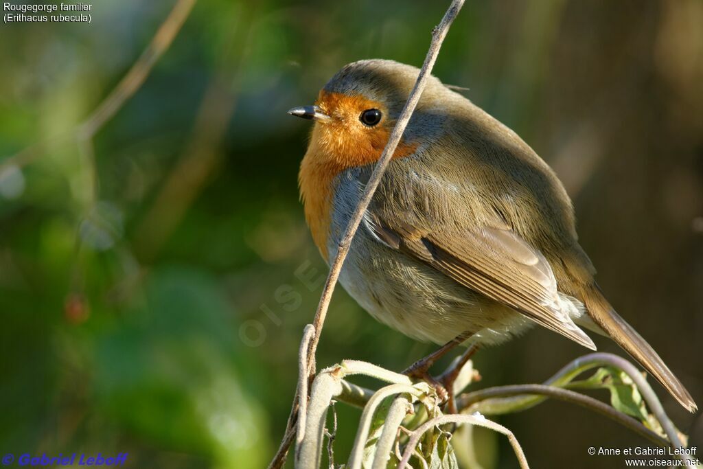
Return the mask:
<svg viewBox="0 0 703 469">
<path fill-rule="evenodd" d="M 591 338 L 560 307 L 557 283 L 548 261 L 505 221 L 497 216 L 490 221 L 484 217 L 479 226 L 465 226 L 470 223 L 441 213 L 442 207 L 451 213 L 452 203 L 462 203 L 461 198 L 452 198 L 456 190 L 441 190 L 439 198 L 449 200 L 438 200 L 436 184 L 415 179 L 412 195 L 408 196 L 407 188 L 393 187 L 393 180 L 399 179 L 389 174 L 380 198 L 375 199 L 364 219 L 364 225 L 377 240 L 520 311 L 541 326 L 595 349 Z M 415 202 L 410 207 L 411 199 L 425 203 Z"/>
</svg>

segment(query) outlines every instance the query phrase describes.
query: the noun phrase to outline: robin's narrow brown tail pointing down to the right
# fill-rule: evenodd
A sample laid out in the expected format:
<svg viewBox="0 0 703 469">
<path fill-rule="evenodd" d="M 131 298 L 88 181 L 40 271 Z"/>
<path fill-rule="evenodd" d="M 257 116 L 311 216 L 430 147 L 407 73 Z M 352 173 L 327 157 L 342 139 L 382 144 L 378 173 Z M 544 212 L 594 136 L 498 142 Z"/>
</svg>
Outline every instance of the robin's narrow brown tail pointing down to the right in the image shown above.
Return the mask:
<svg viewBox="0 0 703 469">
<path fill-rule="evenodd" d="M 603 332 L 633 356 L 654 378 L 657 378 L 657 381 L 662 383 L 662 386 L 666 387 L 666 390 L 671 392 L 671 395 L 676 397 L 676 400 L 688 411 L 695 412 L 698 409 L 691 394 L 683 387 L 681 381 L 671 373 L 669 367 L 659 358 L 657 352 L 654 352 L 652 346 L 615 312 L 598 285 L 595 283 L 590 285 L 584 291 L 583 300 L 586 309 L 588 309 L 588 315 L 591 316 L 594 323 L 600 326 Z"/>
</svg>

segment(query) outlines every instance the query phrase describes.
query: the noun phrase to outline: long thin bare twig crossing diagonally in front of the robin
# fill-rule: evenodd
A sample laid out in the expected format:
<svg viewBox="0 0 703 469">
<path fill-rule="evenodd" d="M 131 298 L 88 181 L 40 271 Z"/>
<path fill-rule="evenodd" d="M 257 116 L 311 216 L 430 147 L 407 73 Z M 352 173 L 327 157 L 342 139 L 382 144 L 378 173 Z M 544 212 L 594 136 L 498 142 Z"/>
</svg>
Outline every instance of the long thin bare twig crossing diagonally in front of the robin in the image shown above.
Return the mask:
<svg viewBox="0 0 703 469">
<path fill-rule="evenodd" d="M 359 200 L 359 205 L 356 206 L 356 210 L 354 210 L 354 213 L 352 214 L 352 217 L 349 219 L 349 223 L 347 224 L 347 229 L 344 230 L 344 236 L 342 236 L 342 240 L 340 241 L 339 246 L 337 248 L 337 255 L 335 256 L 333 264 L 330 267 L 330 273 L 328 274 L 323 293 L 320 297 L 320 302 L 315 312 L 315 319 L 313 321 L 315 335 L 313 340 L 310 342 L 310 348 L 308 350 L 307 355 L 309 375 L 314 375 L 314 371 L 316 369 L 315 352 L 317 349 L 318 342 L 320 341 L 320 334 L 322 332 L 322 327 L 325 322 L 325 316 L 327 315 L 330 300 L 332 299 L 332 293 L 335 290 L 337 279 L 339 278 L 340 271 L 342 270 L 342 264 L 344 262 L 344 259 L 347 257 L 347 252 L 349 252 L 349 247 L 352 244 L 352 238 L 354 238 L 354 233 L 356 233 L 356 229 L 359 228 L 359 224 L 361 223 L 363 214 L 364 212 L 366 212 L 366 209 L 368 208 L 368 205 L 371 202 L 371 198 L 373 197 L 373 193 L 375 193 L 376 188 L 378 187 L 378 184 L 381 180 L 381 176 L 383 176 L 383 173 L 385 172 L 385 169 L 388 166 L 392 155 L 395 153 L 395 150 L 398 147 L 398 144 L 400 143 L 401 136 L 403 136 L 403 132 L 405 131 L 405 128 L 407 127 L 411 116 L 413 115 L 415 106 L 418 105 L 418 101 L 420 101 L 420 96 L 422 95 L 423 90 L 425 89 L 425 85 L 427 84 L 427 78 L 430 76 L 430 72 L 432 72 L 434 62 L 437 60 L 437 56 L 439 55 L 439 49 L 441 49 L 441 44 L 444 41 L 444 37 L 446 37 L 446 33 L 449 31 L 451 23 L 453 22 L 454 18 L 456 18 L 456 15 L 458 15 L 463 4 L 464 0 L 452 0 L 449 9 L 446 11 L 446 13 L 444 14 L 444 18 L 442 18 L 441 20 L 441 23 L 439 23 L 439 25 L 435 27 L 434 30 L 432 30 L 432 42 L 430 43 L 430 49 L 429 51 L 427 51 L 425 62 L 423 63 L 423 67 L 420 69 L 420 74 L 418 75 L 418 79 L 415 82 L 415 86 L 413 86 L 413 90 L 411 91 L 410 96 L 408 96 L 408 101 L 406 101 L 405 106 L 401 111 L 400 116 L 398 117 L 398 121 L 396 122 L 396 125 L 388 138 L 388 142 L 386 143 L 383 153 L 381 154 L 378 163 L 373 169 L 373 173 L 371 174 L 370 179 L 366 184 L 366 190 L 361 196 L 361 200 Z M 288 428 L 290 428 L 290 426 L 293 424 L 292 420 L 295 420 L 295 411 L 292 412 L 290 418 L 288 418 Z M 290 445 L 290 442 L 288 444 Z M 288 451 L 288 449 L 286 448 L 285 451 Z M 276 454 L 276 457 L 278 457 L 278 454 L 280 454 L 280 449 Z M 269 468 L 276 467 L 280 466 L 273 465 L 273 462 L 271 463 L 271 465 L 269 465 Z"/>
</svg>

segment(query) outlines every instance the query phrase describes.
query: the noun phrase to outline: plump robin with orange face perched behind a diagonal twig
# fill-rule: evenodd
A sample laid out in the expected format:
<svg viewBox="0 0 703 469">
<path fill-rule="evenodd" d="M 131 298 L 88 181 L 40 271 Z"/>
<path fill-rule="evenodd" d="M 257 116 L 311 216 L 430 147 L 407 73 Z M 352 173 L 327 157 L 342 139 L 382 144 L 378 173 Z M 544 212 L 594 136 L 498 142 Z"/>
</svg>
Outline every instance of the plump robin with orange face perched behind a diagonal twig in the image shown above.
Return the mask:
<svg viewBox="0 0 703 469">
<path fill-rule="evenodd" d="M 298 183 L 328 263 L 419 73 L 394 60 L 359 60 L 314 105 L 288 111 L 314 121 Z M 537 324 L 595 350 L 583 329 L 604 335 L 694 412 L 681 381 L 605 298 L 575 225 L 547 163 L 430 76 L 339 281 L 375 319 L 423 342 L 498 345 Z"/>
</svg>

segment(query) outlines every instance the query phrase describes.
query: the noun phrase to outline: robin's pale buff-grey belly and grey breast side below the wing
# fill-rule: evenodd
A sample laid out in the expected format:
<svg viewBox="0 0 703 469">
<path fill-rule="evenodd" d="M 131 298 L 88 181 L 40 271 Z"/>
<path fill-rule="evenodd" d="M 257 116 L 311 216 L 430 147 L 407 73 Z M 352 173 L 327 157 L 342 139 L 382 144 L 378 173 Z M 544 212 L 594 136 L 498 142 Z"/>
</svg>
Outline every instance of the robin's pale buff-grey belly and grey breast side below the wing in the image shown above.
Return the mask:
<svg viewBox="0 0 703 469">
<path fill-rule="evenodd" d="M 353 171 L 340 176 L 337 184 L 330 259 L 362 190 Z M 389 248 L 364 223 L 354 236 L 340 283 L 375 319 L 424 342 L 444 344 L 468 331 L 474 334 L 472 342 L 496 344 L 534 324 L 514 309 Z"/>
</svg>

